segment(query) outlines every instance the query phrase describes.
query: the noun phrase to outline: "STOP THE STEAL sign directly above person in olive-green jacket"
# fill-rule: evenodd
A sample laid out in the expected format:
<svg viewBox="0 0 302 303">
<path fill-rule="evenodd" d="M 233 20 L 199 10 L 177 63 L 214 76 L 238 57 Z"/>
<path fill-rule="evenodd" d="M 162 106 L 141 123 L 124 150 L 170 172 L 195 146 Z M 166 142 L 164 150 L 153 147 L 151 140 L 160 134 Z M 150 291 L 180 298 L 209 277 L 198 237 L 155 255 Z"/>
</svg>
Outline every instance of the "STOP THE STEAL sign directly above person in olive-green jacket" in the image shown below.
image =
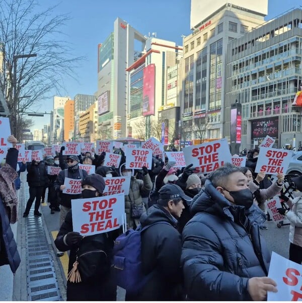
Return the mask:
<svg viewBox="0 0 302 303">
<path fill-rule="evenodd" d="M 152 167 L 152 149 L 133 148 L 126 155 L 126 169 L 139 169 L 145 166 L 148 170 Z"/>
</svg>

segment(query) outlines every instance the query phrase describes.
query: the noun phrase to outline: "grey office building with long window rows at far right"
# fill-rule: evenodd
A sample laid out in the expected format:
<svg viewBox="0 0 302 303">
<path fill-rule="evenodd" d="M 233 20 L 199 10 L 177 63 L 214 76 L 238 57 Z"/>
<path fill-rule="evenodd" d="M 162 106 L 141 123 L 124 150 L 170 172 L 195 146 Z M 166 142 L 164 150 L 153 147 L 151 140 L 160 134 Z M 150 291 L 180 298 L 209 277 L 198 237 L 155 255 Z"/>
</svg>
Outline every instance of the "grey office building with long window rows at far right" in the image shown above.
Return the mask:
<svg viewBox="0 0 302 303">
<path fill-rule="evenodd" d="M 226 57 L 224 136 L 231 105 L 242 104 L 241 149 L 268 134 L 275 147 L 301 146 L 301 107 L 292 101 L 302 80 L 302 10 L 294 9 L 233 40 Z"/>
</svg>

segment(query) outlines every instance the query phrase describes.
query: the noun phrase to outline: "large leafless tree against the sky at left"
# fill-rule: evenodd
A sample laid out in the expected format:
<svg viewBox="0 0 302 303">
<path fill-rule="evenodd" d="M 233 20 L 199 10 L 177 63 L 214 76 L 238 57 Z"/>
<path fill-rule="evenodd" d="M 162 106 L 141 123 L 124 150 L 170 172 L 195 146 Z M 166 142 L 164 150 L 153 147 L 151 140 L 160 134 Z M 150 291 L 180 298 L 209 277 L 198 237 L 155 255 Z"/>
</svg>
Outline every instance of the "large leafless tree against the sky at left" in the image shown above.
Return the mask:
<svg viewBox="0 0 302 303">
<path fill-rule="evenodd" d="M 64 79 L 74 79 L 74 68 L 83 59 L 74 57 L 72 47 L 62 38 L 63 26 L 70 18 L 64 14 L 52 17 L 54 9 L 39 11 L 37 0 L 1 1 L 0 89 L 17 138 L 18 118 L 29 109 L 38 110 L 39 101 L 51 90 L 64 90 Z"/>
</svg>

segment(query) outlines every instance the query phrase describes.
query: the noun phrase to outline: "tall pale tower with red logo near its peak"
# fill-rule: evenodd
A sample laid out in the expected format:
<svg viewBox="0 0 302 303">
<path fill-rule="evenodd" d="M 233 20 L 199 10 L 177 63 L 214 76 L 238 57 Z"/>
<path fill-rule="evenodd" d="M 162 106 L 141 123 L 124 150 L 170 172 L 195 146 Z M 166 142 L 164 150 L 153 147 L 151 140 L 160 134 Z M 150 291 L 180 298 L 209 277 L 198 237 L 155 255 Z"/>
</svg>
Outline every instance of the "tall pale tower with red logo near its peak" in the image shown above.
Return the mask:
<svg viewBox="0 0 302 303">
<path fill-rule="evenodd" d="M 98 124 L 103 139 L 126 136 L 126 69 L 142 56 L 145 40 L 131 25 L 117 18 L 113 32 L 98 46 Z"/>
</svg>

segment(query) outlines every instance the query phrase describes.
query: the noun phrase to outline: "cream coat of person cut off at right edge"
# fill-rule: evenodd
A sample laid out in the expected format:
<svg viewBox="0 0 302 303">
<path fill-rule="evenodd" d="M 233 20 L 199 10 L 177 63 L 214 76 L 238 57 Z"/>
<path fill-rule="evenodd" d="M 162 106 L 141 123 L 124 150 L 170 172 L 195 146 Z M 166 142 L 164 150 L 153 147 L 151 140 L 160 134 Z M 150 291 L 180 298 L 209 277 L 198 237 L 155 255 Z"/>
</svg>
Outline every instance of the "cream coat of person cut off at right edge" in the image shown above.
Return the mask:
<svg viewBox="0 0 302 303">
<path fill-rule="evenodd" d="M 290 222 L 289 242 L 302 247 L 302 197 L 296 197 L 288 204 L 290 204 L 290 211 L 285 216 Z"/>
</svg>

